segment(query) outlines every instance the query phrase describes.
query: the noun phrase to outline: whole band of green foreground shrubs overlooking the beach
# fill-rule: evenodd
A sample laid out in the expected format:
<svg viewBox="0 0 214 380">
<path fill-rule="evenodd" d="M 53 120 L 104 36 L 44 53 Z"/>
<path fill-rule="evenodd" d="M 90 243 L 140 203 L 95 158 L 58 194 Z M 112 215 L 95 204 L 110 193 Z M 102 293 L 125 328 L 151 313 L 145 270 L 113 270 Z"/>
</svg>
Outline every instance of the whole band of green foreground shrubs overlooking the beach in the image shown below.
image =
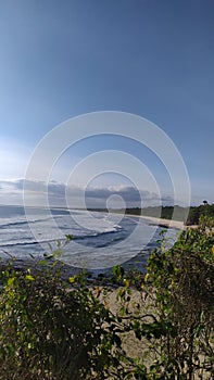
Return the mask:
<svg viewBox="0 0 214 380">
<path fill-rule="evenodd" d="M 1 270 L 0 379 L 213 379 L 213 228 L 201 217 L 173 248 L 162 239 L 146 275 L 116 266 L 116 311 L 110 286 L 89 289 L 84 273 L 63 281 L 55 261 L 45 265 L 51 255 L 39 271 L 11 262 Z"/>
</svg>

